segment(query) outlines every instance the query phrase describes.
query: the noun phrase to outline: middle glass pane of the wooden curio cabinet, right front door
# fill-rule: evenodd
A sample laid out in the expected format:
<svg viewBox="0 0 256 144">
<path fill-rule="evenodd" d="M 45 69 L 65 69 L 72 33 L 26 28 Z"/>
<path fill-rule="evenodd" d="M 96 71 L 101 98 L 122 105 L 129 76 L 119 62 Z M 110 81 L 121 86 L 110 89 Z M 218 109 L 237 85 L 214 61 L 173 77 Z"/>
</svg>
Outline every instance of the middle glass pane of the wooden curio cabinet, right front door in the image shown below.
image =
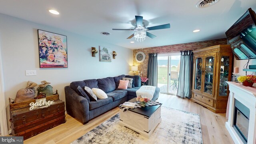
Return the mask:
<svg viewBox="0 0 256 144">
<path fill-rule="evenodd" d="M 208 56 L 205 59 L 204 68 L 204 92 L 212 95 L 213 74 L 214 74 L 214 57 Z"/>
</svg>

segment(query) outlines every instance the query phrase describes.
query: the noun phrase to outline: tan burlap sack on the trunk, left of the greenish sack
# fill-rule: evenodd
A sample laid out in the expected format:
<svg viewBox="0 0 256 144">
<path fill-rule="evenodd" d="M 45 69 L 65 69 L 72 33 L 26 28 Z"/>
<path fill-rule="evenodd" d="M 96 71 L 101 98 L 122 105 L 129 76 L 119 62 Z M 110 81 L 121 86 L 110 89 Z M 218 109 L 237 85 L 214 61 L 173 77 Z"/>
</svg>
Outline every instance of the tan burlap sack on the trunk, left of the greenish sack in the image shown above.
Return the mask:
<svg viewBox="0 0 256 144">
<path fill-rule="evenodd" d="M 35 89 L 34 89 L 35 86 L 37 86 L 36 83 L 28 81 L 26 88 L 22 88 L 18 90 L 16 94 L 15 102 L 33 100 L 35 97 Z"/>
</svg>

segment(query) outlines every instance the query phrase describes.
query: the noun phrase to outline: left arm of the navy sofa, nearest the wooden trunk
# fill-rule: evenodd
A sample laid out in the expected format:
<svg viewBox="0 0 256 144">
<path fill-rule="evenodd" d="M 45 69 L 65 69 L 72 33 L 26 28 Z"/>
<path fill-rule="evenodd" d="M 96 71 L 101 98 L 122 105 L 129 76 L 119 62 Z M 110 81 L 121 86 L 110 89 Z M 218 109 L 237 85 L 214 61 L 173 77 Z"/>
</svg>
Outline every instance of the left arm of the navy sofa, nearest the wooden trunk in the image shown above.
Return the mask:
<svg viewBox="0 0 256 144">
<path fill-rule="evenodd" d="M 90 120 L 88 100 L 78 95 L 70 86 L 65 86 L 65 98 L 67 113 L 76 117 L 82 124 L 88 123 Z"/>
</svg>

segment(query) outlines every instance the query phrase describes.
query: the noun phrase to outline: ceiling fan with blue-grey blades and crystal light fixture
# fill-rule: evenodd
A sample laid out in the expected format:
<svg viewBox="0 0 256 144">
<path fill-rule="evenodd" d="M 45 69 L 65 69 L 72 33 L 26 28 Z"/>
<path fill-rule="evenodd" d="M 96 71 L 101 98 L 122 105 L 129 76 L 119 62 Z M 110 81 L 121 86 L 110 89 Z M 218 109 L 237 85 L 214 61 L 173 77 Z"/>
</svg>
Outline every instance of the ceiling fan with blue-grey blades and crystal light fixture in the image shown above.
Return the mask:
<svg viewBox="0 0 256 144">
<path fill-rule="evenodd" d="M 135 19 L 136 19 L 136 26 L 134 29 L 113 28 L 112 30 L 134 30 L 134 34 L 129 36 L 127 39 L 135 37 L 135 40 L 137 42 L 143 42 L 146 39 L 146 36 L 148 36 L 150 38 L 156 37 L 154 34 L 147 32 L 147 30 L 160 30 L 160 29 L 170 28 L 170 24 L 163 24 L 163 25 L 159 25 L 159 26 L 152 26 L 152 27 L 145 28 L 145 26 L 143 24 L 143 16 L 135 16 Z"/>
</svg>

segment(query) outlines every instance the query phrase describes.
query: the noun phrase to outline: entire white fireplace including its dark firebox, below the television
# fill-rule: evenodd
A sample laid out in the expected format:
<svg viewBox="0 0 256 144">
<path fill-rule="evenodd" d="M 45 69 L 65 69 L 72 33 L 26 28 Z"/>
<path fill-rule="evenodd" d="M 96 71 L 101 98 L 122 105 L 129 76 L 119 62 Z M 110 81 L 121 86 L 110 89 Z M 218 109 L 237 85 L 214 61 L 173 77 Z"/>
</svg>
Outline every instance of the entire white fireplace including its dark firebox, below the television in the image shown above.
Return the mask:
<svg viewBox="0 0 256 144">
<path fill-rule="evenodd" d="M 227 82 L 226 128 L 235 144 L 256 144 L 256 87 Z"/>
</svg>

